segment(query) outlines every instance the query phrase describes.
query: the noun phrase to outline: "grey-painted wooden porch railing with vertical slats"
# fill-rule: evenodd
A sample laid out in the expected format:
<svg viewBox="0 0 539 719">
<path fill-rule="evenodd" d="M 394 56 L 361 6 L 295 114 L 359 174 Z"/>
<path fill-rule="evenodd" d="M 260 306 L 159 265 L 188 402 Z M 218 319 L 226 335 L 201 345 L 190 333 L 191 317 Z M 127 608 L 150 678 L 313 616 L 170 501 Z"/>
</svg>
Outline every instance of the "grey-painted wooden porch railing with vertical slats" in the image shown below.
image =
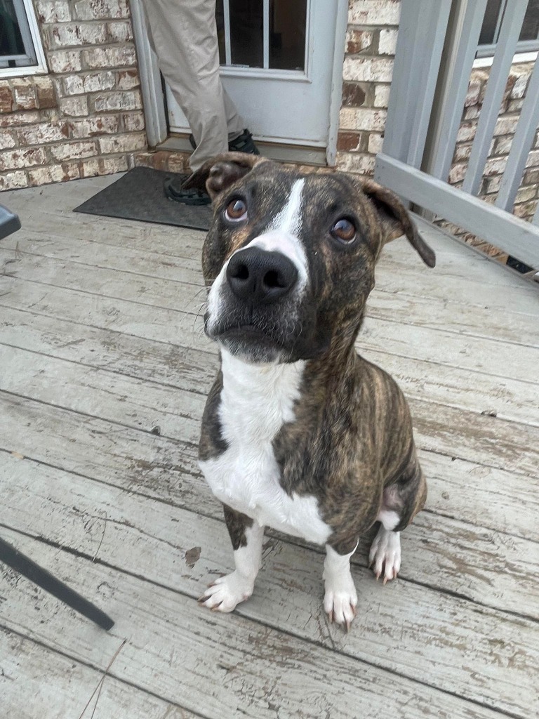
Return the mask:
<svg viewBox="0 0 539 719">
<path fill-rule="evenodd" d="M 462 189 L 448 184 L 487 0 L 402 0 L 390 104 L 375 178 L 411 203 L 539 269 L 539 209 L 511 214 L 539 124 L 539 61 L 497 200 L 476 197 L 528 0 L 505 13 Z"/>
</svg>

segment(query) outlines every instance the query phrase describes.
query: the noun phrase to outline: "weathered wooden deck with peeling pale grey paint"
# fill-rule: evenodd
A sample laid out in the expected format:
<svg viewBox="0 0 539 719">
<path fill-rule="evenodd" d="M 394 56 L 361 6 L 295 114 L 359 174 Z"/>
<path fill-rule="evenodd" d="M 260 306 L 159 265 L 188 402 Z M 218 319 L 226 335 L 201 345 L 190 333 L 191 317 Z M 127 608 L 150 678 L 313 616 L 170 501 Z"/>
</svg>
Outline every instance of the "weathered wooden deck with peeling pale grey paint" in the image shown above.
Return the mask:
<svg viewBox="0 0 539 719">
<path fill-rule="evenodd" d="M 252 599 L 210 613 L 232 557 L 195 461 L 203 233 L 70 211 L 112 180 L 1 198 L 24 227 L 0 244 L 0 535 L 116 626 L 2 568 L 0 715 L 535 719 L 539 288 L 437 231 L 436 270 L 387 247 L 359 346 L 407 393 L 429 481 L 400 577 L 359 547 L 345 635 L 320 551 L 268 536 Z"/>
</svg>

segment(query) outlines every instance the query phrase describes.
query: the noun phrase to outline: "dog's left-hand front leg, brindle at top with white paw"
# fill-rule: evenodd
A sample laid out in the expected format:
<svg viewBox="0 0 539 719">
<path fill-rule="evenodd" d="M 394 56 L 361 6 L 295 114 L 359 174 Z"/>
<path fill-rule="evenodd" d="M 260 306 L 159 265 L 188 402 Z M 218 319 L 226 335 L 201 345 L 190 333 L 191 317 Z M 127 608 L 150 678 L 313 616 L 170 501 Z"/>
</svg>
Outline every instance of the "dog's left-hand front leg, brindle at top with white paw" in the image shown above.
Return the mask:
<svg viewBox="0 0 539 719">
<path fill-rule="evenodd" d="M 253 593 L 254 580 L 262 566 L 264 527 L 245 514 L 224 505 L 236 569 L 213 582 L 199 602 L 218 612 L 231 612 Z"/>
</svg>

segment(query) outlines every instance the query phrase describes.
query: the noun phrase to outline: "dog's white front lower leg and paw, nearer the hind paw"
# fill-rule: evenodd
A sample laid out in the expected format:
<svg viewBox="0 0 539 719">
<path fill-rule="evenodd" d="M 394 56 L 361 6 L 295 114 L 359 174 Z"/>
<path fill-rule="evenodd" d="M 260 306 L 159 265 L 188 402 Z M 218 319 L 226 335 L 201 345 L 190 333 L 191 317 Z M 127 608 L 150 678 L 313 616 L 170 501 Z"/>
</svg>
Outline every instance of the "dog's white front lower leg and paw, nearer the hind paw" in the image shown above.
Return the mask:
<svg viewBox="0 0 539 719">
<path fill-rule="evenodd" d="M 338 549 L 342 550 L 342 547 L 338 546 Z M 350 572 L 350 558 L 356 549 L 357 543 L 349 554 L 339 554 L 330 544 L 326 544 L 322 575 L 326 585 L 324 610 L 330 622 L 346 626 L 346 631 L 349 631 L 356 616 L 357 592 Z"/>
</svg>

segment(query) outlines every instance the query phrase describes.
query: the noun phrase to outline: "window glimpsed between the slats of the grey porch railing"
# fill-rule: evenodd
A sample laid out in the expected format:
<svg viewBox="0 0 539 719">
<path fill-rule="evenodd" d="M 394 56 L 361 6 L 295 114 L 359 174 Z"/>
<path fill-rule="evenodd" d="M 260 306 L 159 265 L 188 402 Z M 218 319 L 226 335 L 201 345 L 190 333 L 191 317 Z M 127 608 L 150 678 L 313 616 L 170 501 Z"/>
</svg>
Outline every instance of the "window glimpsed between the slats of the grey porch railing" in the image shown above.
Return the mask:
<svg viewBox="0 0 539 719">
<path fill-rule="evenodd" d="M 504 14 L 510 10 L 511 0 L 488 0 L 481 35 L 479 35 L 478 58 L 494 55 L 499 27 Z M 529 0 L 517 42 L 517 52 L 535 52 L 537 50 L 539 50 L 539 0 Z"/>
</svg>

